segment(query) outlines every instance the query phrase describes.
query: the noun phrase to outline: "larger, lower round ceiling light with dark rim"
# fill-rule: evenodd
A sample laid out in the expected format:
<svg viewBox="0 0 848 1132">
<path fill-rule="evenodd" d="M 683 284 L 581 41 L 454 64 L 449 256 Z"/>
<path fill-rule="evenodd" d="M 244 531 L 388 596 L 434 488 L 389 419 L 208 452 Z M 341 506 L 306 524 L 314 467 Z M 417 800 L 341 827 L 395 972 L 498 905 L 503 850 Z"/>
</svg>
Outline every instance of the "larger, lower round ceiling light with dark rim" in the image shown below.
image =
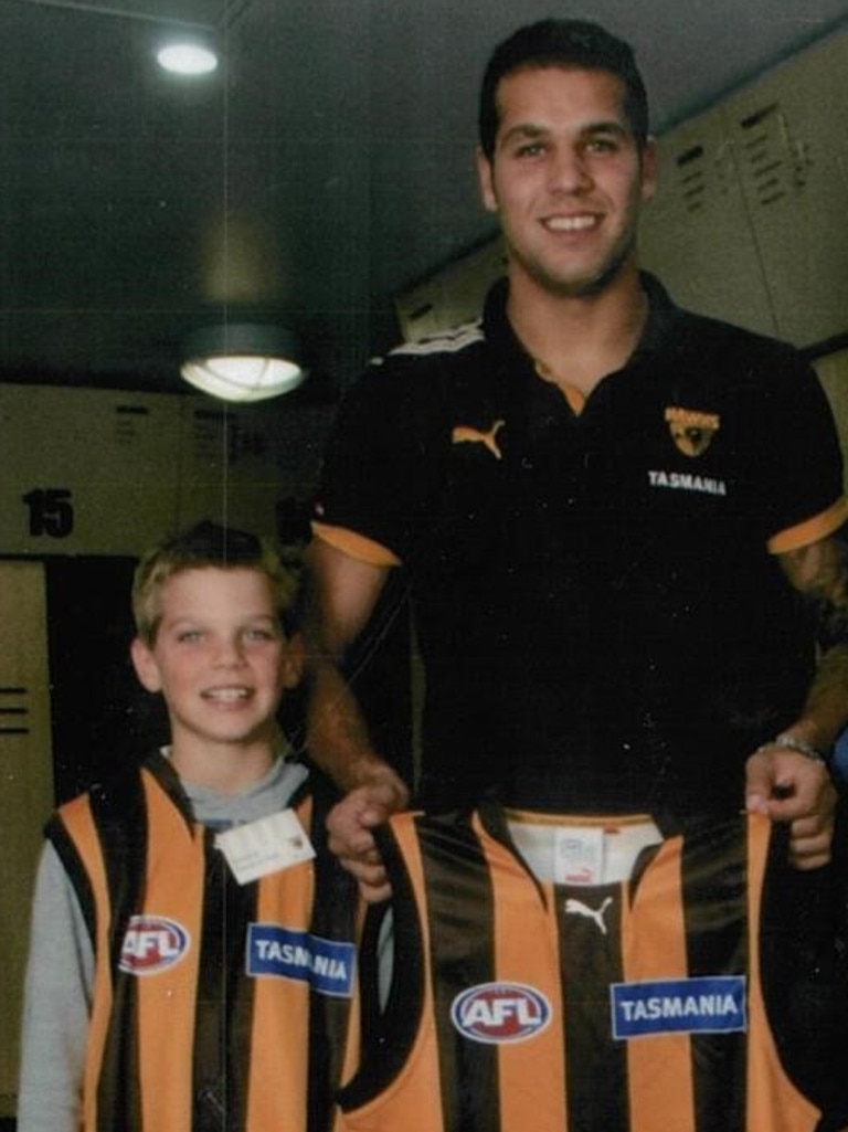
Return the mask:
<svg viewBox="0 0 848 1132">
<path fill-rule="evenodd" d="M 186 340 L 182 377 L 223 401 L 265 401 L 295 389 L 306 378 L 291 331 L 262 323 L 223 323 Z"/>
</svg>

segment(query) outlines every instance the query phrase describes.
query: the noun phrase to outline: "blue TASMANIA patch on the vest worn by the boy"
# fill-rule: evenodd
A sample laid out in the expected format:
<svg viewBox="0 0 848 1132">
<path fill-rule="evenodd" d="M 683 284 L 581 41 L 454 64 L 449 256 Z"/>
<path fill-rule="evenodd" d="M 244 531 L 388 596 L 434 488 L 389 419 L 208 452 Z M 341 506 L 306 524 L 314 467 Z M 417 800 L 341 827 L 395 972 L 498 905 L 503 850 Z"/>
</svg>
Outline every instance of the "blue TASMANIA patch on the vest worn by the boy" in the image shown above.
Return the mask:
<svg viewBox="0 0 848 1132">
<path fill-rule="evenodd" d="M 247 972 L 255 978 L 297 979 L 319 994 L 350 998 L 356 950 L 352 943 L 324 940 L 277 924 L 248 928 Z"/>
</svg>

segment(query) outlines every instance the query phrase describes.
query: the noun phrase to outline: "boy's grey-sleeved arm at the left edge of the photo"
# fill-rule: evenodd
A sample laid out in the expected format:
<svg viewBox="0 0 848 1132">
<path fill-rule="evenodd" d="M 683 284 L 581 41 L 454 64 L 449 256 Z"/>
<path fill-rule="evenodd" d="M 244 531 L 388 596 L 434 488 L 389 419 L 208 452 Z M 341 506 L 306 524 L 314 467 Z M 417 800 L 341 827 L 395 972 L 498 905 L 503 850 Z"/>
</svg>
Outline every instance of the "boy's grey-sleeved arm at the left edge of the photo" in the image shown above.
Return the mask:
<svg viewBox="0 0 848 1132">
<path fill-rule="evenodd" d="M 94 953 L 76 893 L 46 843 L 29 927 L 18 1094 L 18 1132 L 80 1125 Z"/>
</svg>

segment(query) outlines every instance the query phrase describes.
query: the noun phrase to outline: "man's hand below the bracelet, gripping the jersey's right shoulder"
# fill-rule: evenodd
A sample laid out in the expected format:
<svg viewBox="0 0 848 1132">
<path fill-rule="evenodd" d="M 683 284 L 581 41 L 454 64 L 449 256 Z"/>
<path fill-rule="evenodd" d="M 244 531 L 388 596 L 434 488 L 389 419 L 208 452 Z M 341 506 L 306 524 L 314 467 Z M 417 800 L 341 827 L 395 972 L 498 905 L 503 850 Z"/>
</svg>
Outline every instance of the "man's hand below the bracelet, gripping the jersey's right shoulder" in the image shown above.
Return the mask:
<svg viewBox="0 0 848 1132">
<path fill-rule="evenodd" d="M 831 858 L 837 791 L 823 763 L 795 751 L 765 746 L 746 764 L 745 808 L 789 822 L 789 859 L 820 868 Z"/>
</svg>

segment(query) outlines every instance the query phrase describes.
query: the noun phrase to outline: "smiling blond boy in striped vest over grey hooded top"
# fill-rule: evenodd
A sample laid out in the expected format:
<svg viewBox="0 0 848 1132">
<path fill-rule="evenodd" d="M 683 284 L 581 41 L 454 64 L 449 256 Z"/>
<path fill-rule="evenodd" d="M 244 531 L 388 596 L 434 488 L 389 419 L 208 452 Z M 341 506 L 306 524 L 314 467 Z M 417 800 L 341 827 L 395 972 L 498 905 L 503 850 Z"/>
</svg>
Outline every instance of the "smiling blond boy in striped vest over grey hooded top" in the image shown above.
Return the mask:
<svg viewBox="0 0 848 1132">
<path fill-rule="evenodd" d="M 132 662 L 171 743 L 48 824 L 19 1132 L 332 1126 L 357 906 L 320 844 L 331 798 L 277 724 L 295 590 L 208 522 L 139 564 Z"/>
</svg>

